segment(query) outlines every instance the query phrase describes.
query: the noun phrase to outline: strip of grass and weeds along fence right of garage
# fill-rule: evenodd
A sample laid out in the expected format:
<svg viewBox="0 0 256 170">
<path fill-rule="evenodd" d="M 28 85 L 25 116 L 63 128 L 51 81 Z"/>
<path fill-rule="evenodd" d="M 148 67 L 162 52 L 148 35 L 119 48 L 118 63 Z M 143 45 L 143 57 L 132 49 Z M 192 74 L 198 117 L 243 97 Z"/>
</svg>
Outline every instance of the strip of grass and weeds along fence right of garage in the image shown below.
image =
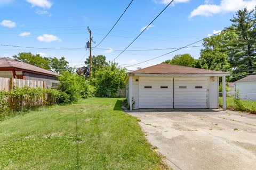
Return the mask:
<svg viewBox="0 0 256 170">
<path fill-rule="evenodd" d="M 234 97 L 227 96 L 227 108 L 234 109 L 237 111 L 247 111 L 251 113 L 256 113 L 256 101 L 243 100 L 240 99 L 241 105 L 244 109 L 239 109 L 235 103 Z M 219 104 L 222 106 L 222 97 L 219 97 Z"/>
</svg>

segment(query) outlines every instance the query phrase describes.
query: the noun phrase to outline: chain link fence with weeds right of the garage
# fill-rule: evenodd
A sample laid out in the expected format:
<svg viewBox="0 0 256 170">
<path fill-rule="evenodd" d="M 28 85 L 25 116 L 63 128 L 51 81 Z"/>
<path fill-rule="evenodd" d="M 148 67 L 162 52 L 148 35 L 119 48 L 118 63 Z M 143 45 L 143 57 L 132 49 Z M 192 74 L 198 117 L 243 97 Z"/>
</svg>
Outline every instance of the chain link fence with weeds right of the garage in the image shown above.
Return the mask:
<svg viewBox="0 0 256 170">
<path fill-rule="evenodd" d="M 219 93 L 219 104 L 222 107 L 222 92 Z M 227 109 L 256 113 L 256 94 L 227 92 Z"/>
</svg>

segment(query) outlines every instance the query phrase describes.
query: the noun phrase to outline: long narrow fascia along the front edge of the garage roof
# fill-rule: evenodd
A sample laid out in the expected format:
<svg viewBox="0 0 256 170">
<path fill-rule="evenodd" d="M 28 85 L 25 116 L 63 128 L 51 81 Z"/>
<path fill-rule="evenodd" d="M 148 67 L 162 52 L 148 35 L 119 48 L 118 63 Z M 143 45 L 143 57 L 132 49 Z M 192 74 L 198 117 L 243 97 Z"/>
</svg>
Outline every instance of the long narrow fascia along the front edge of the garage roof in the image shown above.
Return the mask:
<svg viewBox="0 0 256 170">
<path fill-rule="evenodd" d="M 210 76 L 229 76 L 230 73 L 217 74 L 149 74 L 149 73 L 127 73 L 127 76 L 152 76 L 152 77 L 210 77 Z"/>
</svg>

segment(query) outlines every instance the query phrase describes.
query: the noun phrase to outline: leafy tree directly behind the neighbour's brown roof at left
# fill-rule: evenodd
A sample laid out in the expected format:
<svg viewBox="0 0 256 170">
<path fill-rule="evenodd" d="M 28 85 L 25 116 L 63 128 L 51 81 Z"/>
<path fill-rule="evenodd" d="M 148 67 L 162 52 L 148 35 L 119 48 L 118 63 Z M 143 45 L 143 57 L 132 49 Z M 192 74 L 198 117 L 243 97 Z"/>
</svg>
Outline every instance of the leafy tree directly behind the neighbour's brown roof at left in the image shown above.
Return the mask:
<svg viewBox="0 0 256 170">
<path fill-rule="evenodd" d="M 14 55 L 16 58 L 22 62 L 41 67 L 42 69 L 50 70 L 50 61 L 46 57 L 41 57 L 39 54 L 32 53 L 19 53 L 18 56 Z"/>
</svg>

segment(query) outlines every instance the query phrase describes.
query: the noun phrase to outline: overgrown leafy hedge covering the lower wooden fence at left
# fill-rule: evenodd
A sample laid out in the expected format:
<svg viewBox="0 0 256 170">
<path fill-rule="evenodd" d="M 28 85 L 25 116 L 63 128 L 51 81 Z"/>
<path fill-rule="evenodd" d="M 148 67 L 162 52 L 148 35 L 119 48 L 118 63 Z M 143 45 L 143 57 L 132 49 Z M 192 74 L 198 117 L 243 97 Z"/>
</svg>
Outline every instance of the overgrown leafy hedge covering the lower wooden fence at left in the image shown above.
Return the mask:
<svg viewBox="0 0 256 170">
<path fill-rule="evenodd" d="M 0 119 L 12 112 L 57 104 L 60 96 L 61 92 L 54 89 L 14 87 L 11 91 L 0 91 Z"/>
</svg>

